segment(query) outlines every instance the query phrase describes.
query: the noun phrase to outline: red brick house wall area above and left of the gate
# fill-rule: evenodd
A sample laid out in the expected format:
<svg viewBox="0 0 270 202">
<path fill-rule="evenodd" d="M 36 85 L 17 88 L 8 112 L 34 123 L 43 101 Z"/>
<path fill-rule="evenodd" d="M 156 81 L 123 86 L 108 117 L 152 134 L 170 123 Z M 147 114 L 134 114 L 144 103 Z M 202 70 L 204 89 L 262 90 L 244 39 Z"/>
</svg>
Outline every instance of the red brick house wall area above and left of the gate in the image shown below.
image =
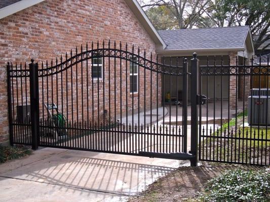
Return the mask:
<svg viewBox="0 0 270 202">
<path fill-rule="evenodd" d="M 147 58 L 149 58 L 150 52 L 153 53 L 153 58 L 156 57 L 155 43 L 123 0 L 48 0 L 1 19 L 0 30 L 0 56 L 2 58 L 0 61 L 0 110 L 2 112 L 0 115 L 0 142 L 7 141 L 9 136 L 6 82 L 6 64 L 8 61 L 29 63 L 30 59 L 33 58 L 41 64 L 41 61 L 55 59 L 57 56 L 60 57 L 61 54 L 65 55 L 65 52 L 69 52 L 71 48 L 74 53 L 75 46 L 85 45 L 87 41 L 105 40 L 105 43 L 107 43 L 109 39 L 116 40 L 117 44 L 119 44 L 119 41 L 122 41 L 123 44 L 126 42 L 134 44 L 135 49 L 140 46 L 141 50 L 146 49 Z M 131 45 L 129 50 L 131 51 Z M 118 69 L 120 62 L 118 61 L 117 64 Z M 108 78 L 108 65 L 105 64 L 104 67 L 105 78 Z M 78 78 L 80 79 L 81 76 L 82 74 L 79 73 Z M 146 78 L 149 78 L 149 74 Z M 156 75 L 153 75 L 153 81 L 155 81 L 155 78 Z M 123 74 L 123 79 L 125 79 L 125 74 Z M 63 81 L 65 82 L 65 79 Z M 118 84 L 119 82 L 118 80 Z M 105 83 L 106 87 L 108 81 Z M 100 89 L 102 89 L 102 84 Z M 56 94 L 55 90 L 52 90 L 54 95 Z M 117 87 L 115 93 L 117 96 L 120 96 L 119 90 L 120 86 Z M 155 92 L 155 89 L 152 90 Z M 65 93 L 64 91 L 63 96 Z M 67 93 L 71 92 L 68 91 Z M 128 96 L 130 100 L 131 96 L 129 94 Z M 102 99 L 102 96 L 100 99 Z M 111 99 L 113 99 L 113 96 Z M 138 96 L 134 97 L 135 105 L 137 105 L 137 99 Z M 78 103 L 80 103 L 80 99 Z M 147 104 L 149 105 L 149 101 Z M 68 105 L 71 105 L 71 103 Z M 85 110 L 85 107 L 82 110 Z M 103 109 L 103 105 L 101 108 Z M 119 108 L 119 105 L 117 105 L 117 113 L 120 111 Z"/>
</svg>

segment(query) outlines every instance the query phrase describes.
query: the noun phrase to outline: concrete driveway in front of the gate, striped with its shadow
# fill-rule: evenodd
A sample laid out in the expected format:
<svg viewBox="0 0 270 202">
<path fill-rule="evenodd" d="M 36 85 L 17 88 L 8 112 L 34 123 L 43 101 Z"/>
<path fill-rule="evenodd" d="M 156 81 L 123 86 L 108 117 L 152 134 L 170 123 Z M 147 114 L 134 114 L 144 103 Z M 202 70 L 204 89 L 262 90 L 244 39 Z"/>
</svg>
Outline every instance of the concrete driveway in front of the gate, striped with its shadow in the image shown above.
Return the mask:
<svg viewBox="0 0 270 202">
<path fill-rule="evenodd" d="M 0 165 L 0 201 L 125 201 L 189 162 L 42 148 Z"/>
</svg>

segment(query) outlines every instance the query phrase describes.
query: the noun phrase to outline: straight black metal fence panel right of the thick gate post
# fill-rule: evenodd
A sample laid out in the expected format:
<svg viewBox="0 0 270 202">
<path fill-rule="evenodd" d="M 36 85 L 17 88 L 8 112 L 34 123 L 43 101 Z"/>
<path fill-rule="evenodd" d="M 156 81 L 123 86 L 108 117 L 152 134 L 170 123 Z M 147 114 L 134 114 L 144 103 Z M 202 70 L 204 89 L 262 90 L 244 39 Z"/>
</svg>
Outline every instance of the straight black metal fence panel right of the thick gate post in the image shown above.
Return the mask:
<svg viewBox="0 0 270 202">
<path fill-rule="evenodd" d="M 213 95 L 200 105 L 199 160 L 269 165 L 269 60 L 216 62 L 207 60 L 199 71 L 200 93 L 204 89 L 207 97 Z"/>
</svg>

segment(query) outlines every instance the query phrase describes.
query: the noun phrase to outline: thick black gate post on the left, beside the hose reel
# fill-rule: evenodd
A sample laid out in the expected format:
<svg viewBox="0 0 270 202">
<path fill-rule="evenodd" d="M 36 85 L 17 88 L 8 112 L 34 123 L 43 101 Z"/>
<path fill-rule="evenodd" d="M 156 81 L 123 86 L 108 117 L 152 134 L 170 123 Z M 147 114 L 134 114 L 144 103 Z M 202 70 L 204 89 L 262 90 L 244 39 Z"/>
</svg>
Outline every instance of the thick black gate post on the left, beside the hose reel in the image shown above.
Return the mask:
<svg viewBox="0 0 270 202">
<path fill-rule="evenodd" d="M 40 104 L 38 97 L 38 64 L 31 59 L 30 69 L 30 112 L 32 149 L 37 149 L 40 139 Z"/>
</svg>

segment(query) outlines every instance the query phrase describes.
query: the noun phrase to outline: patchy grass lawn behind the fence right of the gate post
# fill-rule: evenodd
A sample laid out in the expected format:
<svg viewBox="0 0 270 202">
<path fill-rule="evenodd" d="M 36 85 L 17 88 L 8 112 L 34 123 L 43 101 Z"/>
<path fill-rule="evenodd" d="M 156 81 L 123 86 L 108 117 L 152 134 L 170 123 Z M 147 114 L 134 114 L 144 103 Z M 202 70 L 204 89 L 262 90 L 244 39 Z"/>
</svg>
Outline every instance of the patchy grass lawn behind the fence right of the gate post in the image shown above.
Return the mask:
<svg viewBox="0 0 270 202">
<path fill-rule="evenodd" d="M 205 131 L 201 139 L 202 159 L 266 164 L 270 153 L 270 127 L 243 127 L 247 111 L 239 113 L 215 131 Z"/>
</svg>

